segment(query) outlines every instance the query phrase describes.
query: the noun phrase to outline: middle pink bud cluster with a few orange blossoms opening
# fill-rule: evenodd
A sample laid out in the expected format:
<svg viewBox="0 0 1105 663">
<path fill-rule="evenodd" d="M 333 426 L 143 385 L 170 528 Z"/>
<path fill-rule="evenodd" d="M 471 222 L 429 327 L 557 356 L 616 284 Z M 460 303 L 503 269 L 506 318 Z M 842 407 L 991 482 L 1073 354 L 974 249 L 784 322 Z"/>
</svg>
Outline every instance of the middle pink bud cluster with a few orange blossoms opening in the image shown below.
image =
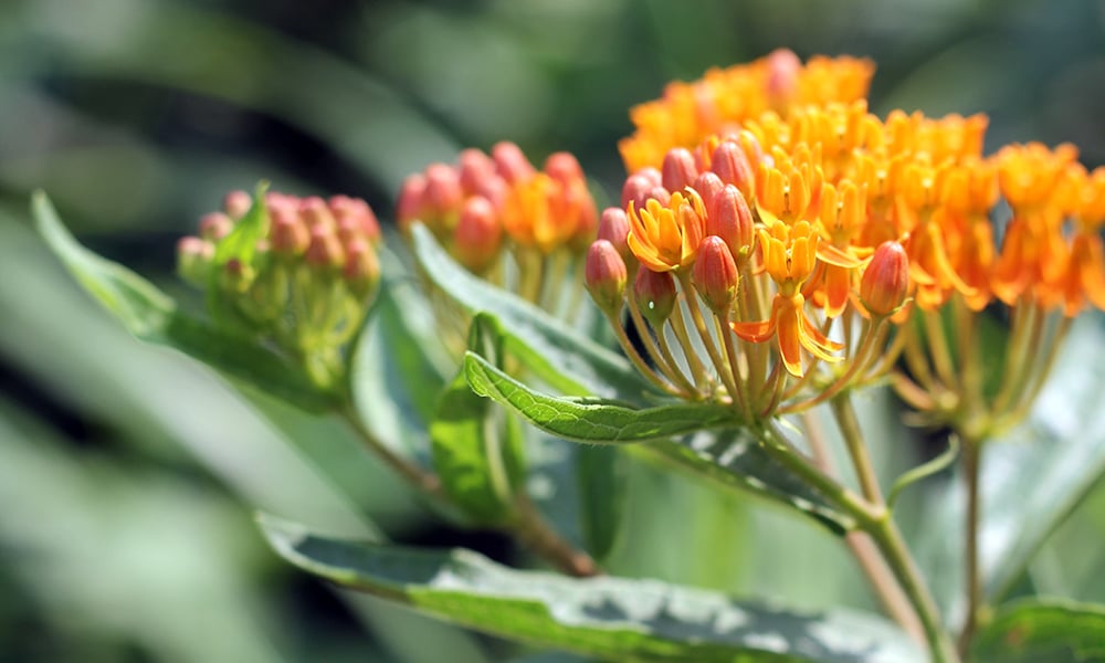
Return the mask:
<svg viewBox="0 0 1105 663">
<path fill-rule="evenodd" d="M 455 165 L 408 177 L 397 208 L 401 230 L 425 224 L 492 283 L 559 313 L 578 301 L 565 296 L 562 277 L 594 238 L 598 212 L 572 155 L 550 155 L 538 170 L 513 143 L 490 155 L 465 149 Z"/>
</svg>

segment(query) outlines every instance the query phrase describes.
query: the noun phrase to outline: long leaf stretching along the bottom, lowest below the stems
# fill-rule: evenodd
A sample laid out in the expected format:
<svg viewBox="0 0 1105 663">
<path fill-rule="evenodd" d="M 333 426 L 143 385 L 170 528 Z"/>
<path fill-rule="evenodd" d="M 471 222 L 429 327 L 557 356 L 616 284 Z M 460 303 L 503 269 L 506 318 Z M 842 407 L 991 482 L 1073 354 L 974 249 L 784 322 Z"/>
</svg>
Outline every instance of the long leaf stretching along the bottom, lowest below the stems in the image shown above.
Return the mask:
<svg viewBox="0 0 1105 663">
<path fill-rule="evenodd" d="M 271 518 L 261 526 L 273 549 L 302 569 L 537 646 L 611 661 L 923 660 L 874 615 L 794 612 L 653 580 L 517 571 L 469 550 L 327 539 Z"/>
</svg>

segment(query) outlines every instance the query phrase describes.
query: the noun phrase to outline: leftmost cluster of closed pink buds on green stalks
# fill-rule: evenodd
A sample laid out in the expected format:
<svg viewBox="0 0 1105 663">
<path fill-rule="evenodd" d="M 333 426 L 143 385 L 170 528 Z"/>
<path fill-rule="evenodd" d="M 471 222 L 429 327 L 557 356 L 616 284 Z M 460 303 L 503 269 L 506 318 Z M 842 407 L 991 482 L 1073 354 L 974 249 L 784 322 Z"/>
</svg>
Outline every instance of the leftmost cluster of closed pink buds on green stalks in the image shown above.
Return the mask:
<svg viewBox="0 0 1105 663">
<path fill-rule="evenodd" d="M 376 294 L 380 228 L 364 200 L 244 191 L 178 244 L 178 270 L 207 291 L 221 324 L 299 362 L 324 388 L 345 371 L 348 343 Z"/>
</svg>

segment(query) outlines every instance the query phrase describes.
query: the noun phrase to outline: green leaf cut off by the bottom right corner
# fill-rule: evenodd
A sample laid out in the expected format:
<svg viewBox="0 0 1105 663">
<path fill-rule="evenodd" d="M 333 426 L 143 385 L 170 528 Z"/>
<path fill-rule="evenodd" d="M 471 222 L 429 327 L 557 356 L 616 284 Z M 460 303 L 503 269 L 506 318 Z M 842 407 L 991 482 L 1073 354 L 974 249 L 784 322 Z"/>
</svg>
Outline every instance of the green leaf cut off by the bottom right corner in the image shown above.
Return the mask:
<svg viewBox="0 0 1105 663">
<path fill-rule="evenodd" d="M 1002 663 L 1105 660 L 1105 606 L 1019 601 L 1002 607 L 975 638 L 971 659 Z"/>
</svg>

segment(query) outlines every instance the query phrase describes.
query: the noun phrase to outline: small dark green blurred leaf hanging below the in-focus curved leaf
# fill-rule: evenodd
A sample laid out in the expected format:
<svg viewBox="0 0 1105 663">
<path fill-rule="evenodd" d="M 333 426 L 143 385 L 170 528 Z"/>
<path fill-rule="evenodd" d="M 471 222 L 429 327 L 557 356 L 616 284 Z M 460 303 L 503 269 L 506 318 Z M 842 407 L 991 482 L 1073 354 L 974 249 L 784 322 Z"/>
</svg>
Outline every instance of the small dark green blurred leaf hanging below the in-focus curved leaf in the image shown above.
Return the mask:
<svg viewBox="0 0 1105 663">
<path fill-rule="evenodd" d="M 614 446 L 581 445 L 576 452 L 580 529 L 587 551 L 604 559 L 618 541 L 625 509 L 625 459 Z"/>
</svg>

